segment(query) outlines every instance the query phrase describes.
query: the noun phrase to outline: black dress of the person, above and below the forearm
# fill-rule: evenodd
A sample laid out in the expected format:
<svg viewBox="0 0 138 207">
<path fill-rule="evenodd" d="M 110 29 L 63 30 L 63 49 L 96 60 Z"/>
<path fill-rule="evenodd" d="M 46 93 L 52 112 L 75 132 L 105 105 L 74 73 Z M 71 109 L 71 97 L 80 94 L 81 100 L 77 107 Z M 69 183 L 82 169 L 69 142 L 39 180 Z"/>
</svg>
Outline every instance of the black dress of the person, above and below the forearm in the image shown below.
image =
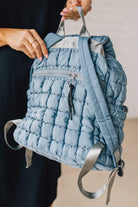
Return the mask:
<svg viewBox="0 0 138 207">
<path fill-rule="evenodd" d="M 44 38 L 56 32 L 64 4 L 65 0 L 0 0 L 0 27 L 36 29 Z M 0 207 L 48 207 L 56 198 L 60 164 L 34 153 L 26 169 L 25 149 L 13 151 L 4 142 L 4 124 L 25 116 L 32 63 L 22 52 L 0 48 Z"/>
</svg>

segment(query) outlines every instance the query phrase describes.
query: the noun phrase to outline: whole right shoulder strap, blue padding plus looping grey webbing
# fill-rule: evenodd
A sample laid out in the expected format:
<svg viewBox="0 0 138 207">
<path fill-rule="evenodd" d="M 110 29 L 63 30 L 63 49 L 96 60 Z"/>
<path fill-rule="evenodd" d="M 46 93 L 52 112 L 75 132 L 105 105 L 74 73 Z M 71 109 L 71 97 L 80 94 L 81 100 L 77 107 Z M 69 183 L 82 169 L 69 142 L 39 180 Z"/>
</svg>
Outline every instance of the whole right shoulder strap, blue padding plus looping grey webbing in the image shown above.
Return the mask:
<svg viewBox="0 0 138 207">
<path fill-rule="evenodd" d="M 85 163 L 78 177 L 78 187 L 81 193 L 90 199 L 100 197 L 105 191 L 105 189 L 108 188 L 106 198 L 107 205 L 110 201 L 111 189 L 116 174 L 118 173 L 119 176 L 123 176 L 124 161 L 120 160 L 120 154 L 118 151 L 118 138 L 94 68 L 94 63 L 89 50 L 89 39 L 90 38 L 87 37 L 79 37 L 79 56 L 81 68 L 86 83 L 86 89 L 88 92 L 89 99 L 92 103 L 97 122 L 100 126 L 107 147 L 111 152 L 115 168 L 110 173 L 107 182 L 103 185 L 103 187 L 100 190 L 98 190 L 97 192 L 88 192 L 84 189 L 82 185 L 82 178 L 86 174 L 88 174 L 91 171 L 91 169 L 95 166 L 104 148 L 102 143 L 97 142 L 90 149 L 86 157 Z"/>
</svg>

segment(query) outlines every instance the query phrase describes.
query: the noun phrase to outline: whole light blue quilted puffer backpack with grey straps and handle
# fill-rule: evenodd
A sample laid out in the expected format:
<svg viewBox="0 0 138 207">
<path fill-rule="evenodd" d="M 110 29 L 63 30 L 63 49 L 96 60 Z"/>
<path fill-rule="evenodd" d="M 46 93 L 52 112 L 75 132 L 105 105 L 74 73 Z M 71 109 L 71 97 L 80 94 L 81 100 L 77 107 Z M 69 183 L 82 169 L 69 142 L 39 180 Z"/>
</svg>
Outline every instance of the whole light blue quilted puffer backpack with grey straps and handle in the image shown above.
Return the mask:
<svg viewBox="0 0 138 207">
<path fill-rule="evenodd" d="M 108 186 L 107 201 L 121 160 L 126 119 L 126 75 L 116 60 L 108 36 L 90 36 L 81 7 L 79 35 L 64 35 L 64 22 L 44 41 L 49 58 L 37 58 L 31 67 L 27 112 L 16 124 L 16 148 L 26 148 L 27 167 L 32 151 L 75 168 L 82 168 L 78 186 L 88 198 L 99 197 Z M 112 170 L 107 183 L 95 193 L 86 191 L 82 178 L 90 170 Z"/>
</svg>

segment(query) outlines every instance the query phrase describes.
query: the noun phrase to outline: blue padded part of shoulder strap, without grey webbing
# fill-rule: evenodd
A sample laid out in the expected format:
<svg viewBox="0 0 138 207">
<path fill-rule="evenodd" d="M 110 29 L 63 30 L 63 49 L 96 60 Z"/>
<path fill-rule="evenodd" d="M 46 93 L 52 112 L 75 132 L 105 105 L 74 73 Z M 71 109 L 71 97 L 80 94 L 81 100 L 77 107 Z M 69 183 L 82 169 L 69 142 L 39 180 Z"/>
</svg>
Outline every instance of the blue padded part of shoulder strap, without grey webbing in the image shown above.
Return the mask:
<svg viewBox="0 0 138 207">
<path fill-rule="evenodd" d="M 118 138 L 94 68 L 89 50 L 89 40 L 89 37 L 79 37 L 79 56 L 82 73 L 96 120 L 100 126 L 107 147 L 110 150 L 114 167 L 116 167 L 115 152 L 118 150 Z"/>
</svg>

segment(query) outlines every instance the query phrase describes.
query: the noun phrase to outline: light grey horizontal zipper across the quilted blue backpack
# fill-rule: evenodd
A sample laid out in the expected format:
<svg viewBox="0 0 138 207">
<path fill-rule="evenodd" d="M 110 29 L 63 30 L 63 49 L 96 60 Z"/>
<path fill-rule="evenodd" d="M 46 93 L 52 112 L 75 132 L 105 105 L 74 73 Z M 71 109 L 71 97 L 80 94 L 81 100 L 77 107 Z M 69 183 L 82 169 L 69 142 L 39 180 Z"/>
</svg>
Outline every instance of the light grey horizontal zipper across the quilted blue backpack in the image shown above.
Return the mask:
<svg viewBox="0 0 138 207">
<path fill-rule="evenodd" d="M 77 80 L 83 80 L 83 75 L 78 72 L 74 71 L 67 71 L 67 70 L 39 70 L 35 71 L 32 74 L 32 77 L 37 77 L 37 76 L 55 76 L 55 77 L 65 77 L 69 79 L 77 79 Z"/>
</svg>

